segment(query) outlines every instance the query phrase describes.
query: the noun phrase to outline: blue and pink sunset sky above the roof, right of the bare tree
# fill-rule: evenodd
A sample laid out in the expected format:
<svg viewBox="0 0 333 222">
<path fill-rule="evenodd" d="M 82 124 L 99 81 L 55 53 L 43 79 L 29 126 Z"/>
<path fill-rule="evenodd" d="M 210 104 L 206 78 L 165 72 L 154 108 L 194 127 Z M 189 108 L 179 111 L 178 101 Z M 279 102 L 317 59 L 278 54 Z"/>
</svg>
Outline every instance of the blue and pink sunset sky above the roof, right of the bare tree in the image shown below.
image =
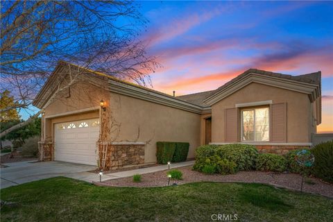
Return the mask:
<svg viewBox="0 0 333 222">
<path fill-rule="evenodd" d="M 162 68 L 153 88 L 216 89 L 249 68 L 322 71 L 323 123 L 333 132 L 333 2 L 142 1 L 142 39 Z"/>
</svg>

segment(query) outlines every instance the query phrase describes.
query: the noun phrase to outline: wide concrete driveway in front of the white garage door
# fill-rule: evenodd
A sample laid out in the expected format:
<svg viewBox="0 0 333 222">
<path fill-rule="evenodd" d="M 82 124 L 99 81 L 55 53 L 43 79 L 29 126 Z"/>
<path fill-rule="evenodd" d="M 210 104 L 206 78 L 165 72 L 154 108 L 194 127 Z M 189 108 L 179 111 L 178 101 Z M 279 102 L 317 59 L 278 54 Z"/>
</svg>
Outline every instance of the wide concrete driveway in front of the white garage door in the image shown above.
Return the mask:
<svg viewBox="0 0 333 222">
<path fill-rule="evenodd" d="M 72 164 L 68 162 L 12 162 L 8 167 L 1 168 L 0 188 L 11 187 L 25 182 L 66 176 L 87 182 L 99 181 L 98 173 L 89 173 L 96 169 L 94 166 Z M 103 180 L 109 180 L 113 176 L 103 176 Z"/>
</svg>

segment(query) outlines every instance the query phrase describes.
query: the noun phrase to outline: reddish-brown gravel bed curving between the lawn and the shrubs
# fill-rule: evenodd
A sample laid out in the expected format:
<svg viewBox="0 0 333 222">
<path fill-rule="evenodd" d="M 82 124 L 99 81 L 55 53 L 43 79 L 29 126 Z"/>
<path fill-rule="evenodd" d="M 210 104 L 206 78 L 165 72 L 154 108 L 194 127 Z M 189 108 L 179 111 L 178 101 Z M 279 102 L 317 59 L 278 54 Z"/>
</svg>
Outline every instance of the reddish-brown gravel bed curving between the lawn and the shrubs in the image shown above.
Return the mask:
<svg viewBox="0 0 333 222">
<path fill-rule="evenodd" d="M 241 171 L 231 175 L 206 175 L 191 170 L 192 166 L 178 168 L 182 171 L 183 180 L 173 181 L 178 185 L 189 182 L 257 182 L 274 185 L 276 187 L 285 187 L 300 191 L 301 176 L 296 173 L 274 173 L 263 171 Z M 101 185 L 117 187 L 164 187 L 168 184 L 167 170 L 155 173 L 146 173 L 142 175 L 142 182 L 133 182 L 133 177 L 120 178 L 116 180 L 105 180 Z M 333 198 L 333 185 L 323 182 L 317 178 L 306 178 L 303 183 L 303 191 L 321 194 Z"/>
</svg>

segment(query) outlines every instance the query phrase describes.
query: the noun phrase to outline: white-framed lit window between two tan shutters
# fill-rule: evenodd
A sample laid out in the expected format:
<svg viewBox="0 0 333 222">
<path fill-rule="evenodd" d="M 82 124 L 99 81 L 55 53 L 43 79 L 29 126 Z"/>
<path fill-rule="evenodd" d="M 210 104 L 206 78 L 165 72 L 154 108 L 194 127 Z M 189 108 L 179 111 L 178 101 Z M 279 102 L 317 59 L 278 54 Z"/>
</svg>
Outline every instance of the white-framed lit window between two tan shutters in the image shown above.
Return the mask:
<svg viewBox="0 0 333 222">
<path fill-rule="evenodd" d="M 241 141 L 269 141 L 269 108 L 241 110 Z"/>
</svg>

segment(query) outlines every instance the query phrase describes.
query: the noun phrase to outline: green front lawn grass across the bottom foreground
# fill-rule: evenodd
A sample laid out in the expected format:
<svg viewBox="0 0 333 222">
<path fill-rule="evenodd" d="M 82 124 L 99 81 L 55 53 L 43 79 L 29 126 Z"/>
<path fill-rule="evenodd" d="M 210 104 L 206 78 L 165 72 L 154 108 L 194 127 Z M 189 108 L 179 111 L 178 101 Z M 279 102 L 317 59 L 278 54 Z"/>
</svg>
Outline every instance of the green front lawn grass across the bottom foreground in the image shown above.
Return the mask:
<svg viewBox="0 0 333 222">
<path fill-rule="evenodd" d="M 267 185 L 196 182 L 177 187 L 96 187 L 50 178 L 1 189 L 3 221 L 331 221 L 333 200 Z"/>
</svg>

